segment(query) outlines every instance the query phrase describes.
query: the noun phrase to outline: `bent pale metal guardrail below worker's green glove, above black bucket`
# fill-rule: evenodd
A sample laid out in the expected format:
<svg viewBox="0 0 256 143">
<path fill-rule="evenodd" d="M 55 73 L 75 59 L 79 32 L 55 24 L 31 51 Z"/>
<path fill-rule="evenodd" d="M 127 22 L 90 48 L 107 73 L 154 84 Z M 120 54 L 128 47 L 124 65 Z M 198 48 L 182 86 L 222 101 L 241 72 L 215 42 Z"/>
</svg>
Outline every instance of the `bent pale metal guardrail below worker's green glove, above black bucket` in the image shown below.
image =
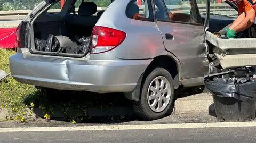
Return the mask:
<svg viewBox="0 0 256 143">
<path fill-rule="evenodd" d="M 225 1 L 237 11 L 237 6 Z M 226 29 L 228 26 L 223 27 Z M 219 32 L 219 31 L 215 31 Z M 211 31 L 206 31 L 209 52 L 214 66 L 220 69 L 239 68 L 256 65 L 256 38 L 221 39 Z"/>
</svg>

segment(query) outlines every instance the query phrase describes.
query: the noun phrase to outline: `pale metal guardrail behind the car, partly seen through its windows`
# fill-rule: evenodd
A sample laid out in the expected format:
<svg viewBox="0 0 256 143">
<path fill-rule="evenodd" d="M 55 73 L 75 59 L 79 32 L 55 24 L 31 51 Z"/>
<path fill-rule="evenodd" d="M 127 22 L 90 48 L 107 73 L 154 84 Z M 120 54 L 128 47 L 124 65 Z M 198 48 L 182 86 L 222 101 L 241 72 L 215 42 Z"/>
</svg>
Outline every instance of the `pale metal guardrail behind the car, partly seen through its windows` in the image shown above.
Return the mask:
<svg viewBox="0 0 256 143">
<path fill-rule="evenodd" d="M 171 11 L 176 12 L 189 12 L 190 5 L 168 5 L 167 6 Z M 179 10 L 182 7 L 182 10 Z M 101 10 L 106 10 L 107 7 L 98 7 L 97 12 Z M 142 12 L 144 6 L 140 6 L 140 11 Z M 206 4 L 198 4 L 198 9 L 201 14 L 206 13 Z M 58 13 L 61 9 L 50 9 L 51 13 Z M 18 10 L 18 11 L 0 11 L 0 21 L 8 20 L 22 20 L 31 10 Z M 77 12 L 78 9 L 75 9 Z M 234 10 L 231 6 L 226 3 L 221 4 L 211 4 L 211 13 L 220 14 L 220 15 L 237 15 L 237 11 Z"/>
</svg>

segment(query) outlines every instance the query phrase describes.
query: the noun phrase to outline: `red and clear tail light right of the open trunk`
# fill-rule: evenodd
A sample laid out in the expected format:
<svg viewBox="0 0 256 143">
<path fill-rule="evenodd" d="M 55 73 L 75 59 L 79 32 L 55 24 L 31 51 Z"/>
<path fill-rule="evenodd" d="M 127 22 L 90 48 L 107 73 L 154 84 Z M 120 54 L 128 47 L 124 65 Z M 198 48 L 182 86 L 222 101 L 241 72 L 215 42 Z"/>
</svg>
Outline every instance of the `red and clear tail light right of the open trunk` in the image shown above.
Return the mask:
<svg viewBox="0 0 256 143">
<path fill-rule="evenodd" d="M 95 26 L 92 31 L 91 54 L 110 51 L 120 45 L 126 33 L 112 28 Z"/>
</svg>

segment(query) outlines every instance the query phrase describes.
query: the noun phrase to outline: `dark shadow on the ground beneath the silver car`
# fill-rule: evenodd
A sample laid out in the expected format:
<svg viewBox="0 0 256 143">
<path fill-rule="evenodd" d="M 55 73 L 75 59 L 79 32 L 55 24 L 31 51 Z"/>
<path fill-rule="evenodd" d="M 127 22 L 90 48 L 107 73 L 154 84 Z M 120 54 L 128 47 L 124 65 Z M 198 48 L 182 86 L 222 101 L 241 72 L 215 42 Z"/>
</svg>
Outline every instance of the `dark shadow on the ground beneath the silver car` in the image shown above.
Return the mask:
<svg viewBox="0 0 256 143">
<path fill-rule="evenodd" d="M 186 88 L 178 97 L 203 92 L 202 88 Z M 41 118 L 50 115 L 50 120 L 76 121 L 79 123 L 121 123 L 141 120 L 135 115 L 132 101 L 122 93 L 95 94 L 85 91 L 38 90 L 29 95 L 24 103 L 34 103 L 34 113 Z"/>
</svg>

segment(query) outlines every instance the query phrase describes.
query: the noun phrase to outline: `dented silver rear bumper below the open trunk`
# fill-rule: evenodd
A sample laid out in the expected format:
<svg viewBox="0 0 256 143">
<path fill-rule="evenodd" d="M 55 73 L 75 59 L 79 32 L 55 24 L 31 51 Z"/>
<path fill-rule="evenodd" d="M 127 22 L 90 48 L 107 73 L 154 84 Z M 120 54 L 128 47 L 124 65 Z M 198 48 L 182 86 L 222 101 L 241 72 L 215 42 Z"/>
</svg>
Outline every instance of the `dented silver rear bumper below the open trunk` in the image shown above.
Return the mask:
<svg viewBox="0 0 256 143">
<path fill-rule="evenodd" d="M 151 60 L 75 60 L 15 54 L 9 58 L 12 77 L 29 85 L 60 90 L 131 92 Z"/>
</svg>

